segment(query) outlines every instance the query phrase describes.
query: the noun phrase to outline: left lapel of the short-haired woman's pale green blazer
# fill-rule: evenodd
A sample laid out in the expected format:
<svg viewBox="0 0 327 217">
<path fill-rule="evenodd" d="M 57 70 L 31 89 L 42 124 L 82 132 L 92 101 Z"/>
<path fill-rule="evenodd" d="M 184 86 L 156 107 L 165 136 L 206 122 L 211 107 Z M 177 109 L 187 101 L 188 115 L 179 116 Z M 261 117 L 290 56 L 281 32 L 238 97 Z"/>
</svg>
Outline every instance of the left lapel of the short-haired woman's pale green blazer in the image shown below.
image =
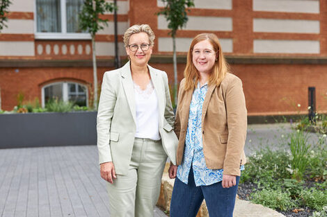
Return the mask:
<svg viewBox="0 0 327 217">
<path fill-rule="evenodd" d="M 129 105 L 129 110 L 131 110 L 131 116 L 133 116 L 134 122 L 136 123 L 136 105 L 135 105 L 135 94 L 134 94 L 134 83 L 131 78 L 131 68 L 129 67 L 129 62 L 127 62 L 121 69 L 120 73 L 122 75 L 122 87 L 124 87 L 125 96 Z"/>
</svg>

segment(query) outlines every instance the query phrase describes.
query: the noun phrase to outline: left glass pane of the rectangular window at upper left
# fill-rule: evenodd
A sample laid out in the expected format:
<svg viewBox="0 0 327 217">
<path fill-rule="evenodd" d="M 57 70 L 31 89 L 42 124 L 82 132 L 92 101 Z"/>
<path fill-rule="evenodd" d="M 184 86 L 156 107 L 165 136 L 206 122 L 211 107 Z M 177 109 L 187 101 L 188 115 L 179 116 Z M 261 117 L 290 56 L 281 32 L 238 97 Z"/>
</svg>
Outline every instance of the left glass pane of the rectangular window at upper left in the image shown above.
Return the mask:
<svg viewBox="0 0 327 217">
<path fill-rule="evenodd" d="M 61 32 L 60 0 L 36 0 L 38 33 Z"/>
</svg>

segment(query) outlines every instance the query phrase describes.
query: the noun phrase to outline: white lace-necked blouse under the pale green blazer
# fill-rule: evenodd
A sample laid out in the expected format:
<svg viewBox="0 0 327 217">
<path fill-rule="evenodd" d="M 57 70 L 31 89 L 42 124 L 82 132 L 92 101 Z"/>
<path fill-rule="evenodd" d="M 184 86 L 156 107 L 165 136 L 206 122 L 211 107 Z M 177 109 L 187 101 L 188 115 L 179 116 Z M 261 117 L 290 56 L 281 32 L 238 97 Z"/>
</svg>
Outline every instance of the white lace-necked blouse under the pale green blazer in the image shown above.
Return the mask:
<svg viewBox="0 0 327 217">
<path fill-rule="evenodd" d="M 136 138 L 159 140 L 158 98 L 152 81 L 142 90 L 134 83 L 136 102 Z"/>
</svg>

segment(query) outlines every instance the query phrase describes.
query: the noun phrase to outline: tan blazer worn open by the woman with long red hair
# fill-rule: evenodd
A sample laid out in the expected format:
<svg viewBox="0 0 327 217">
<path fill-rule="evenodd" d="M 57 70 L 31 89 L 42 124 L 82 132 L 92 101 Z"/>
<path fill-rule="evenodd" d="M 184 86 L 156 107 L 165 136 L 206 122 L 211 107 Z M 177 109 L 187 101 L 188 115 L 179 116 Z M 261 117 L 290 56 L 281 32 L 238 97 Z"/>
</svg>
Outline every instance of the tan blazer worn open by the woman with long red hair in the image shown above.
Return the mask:
<svg viewBox="0 0 327 217">
<path fill-rule="evenodd" d="M 193 89 L 185 91 L 180 83 L 175 133 L 179 138 L 177 165 L 182 163 L 189 108 Z M 207 168 L 223 168 L 228 175 L 241 175 L 239 167 L 246 163 L 247 112 L 242 83 L 227 73 L 221 85 L 209 85 L 202 106 L 202 142 Z"/>
</svg>

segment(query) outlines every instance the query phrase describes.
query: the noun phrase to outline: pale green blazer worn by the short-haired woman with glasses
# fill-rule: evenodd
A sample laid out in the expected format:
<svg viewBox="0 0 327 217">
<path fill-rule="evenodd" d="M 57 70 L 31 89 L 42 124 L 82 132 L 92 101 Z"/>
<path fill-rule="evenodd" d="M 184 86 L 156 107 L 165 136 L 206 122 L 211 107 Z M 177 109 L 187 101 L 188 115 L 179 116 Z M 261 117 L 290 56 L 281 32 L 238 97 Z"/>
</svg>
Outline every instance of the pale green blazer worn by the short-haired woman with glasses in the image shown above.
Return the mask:
<svg viewBox="0 0 327 217">
<path fill-rule="evenodd" d="M 136 105 L 129 62 L 120 69 L 106 71 L 97 111 L 99 164 L 113 162 L 115 172 L 127 174 L 136 132 Z M 166 72 L 147 66 L 159 104 L 159 133 L 163 149 L 176 164 L 175 116 L 170 101 Z"/>
</svg>

